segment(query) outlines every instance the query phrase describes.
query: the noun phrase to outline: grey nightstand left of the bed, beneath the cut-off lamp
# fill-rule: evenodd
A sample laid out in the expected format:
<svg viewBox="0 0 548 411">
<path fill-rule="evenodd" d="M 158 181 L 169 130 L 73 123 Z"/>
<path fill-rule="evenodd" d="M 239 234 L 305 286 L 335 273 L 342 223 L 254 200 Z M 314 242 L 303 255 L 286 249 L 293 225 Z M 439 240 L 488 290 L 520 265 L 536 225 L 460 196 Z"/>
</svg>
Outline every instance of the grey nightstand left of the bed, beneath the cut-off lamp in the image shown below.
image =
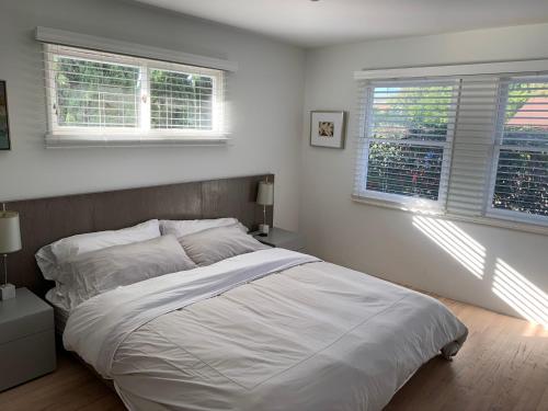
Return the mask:
<svg viewBox="0 0 548 411">
<path fill-rule="evenodd" d="M 55 369 L 54 309 L 26 288 L 0 301 L 0 391 Z"/>
</svg>

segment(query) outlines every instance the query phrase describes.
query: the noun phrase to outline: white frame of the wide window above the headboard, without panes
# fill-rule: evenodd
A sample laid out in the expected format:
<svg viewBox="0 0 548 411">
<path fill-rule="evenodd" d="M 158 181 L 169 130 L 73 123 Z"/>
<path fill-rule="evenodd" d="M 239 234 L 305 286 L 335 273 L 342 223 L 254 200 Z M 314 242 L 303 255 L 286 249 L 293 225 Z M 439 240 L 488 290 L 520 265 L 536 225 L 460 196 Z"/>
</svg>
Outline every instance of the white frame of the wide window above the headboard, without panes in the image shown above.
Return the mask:
<svg viewBox="0 0 548 411">
<path fill-rule="evenodd" d="M 44 44 L 47 133 L 46 146 L 81 146 L 93 142 L 224 142 L 228 140 L 225 132 L 225 72 L 219 69 L 187 66 L 149 58 L 125 56 L 110 52 L 95 52 L 80 47 Z M 66 57 L 88 61 L 116 64 L 137 67 L 140 85 L 137 89 L 139 101 L 136 127 L 101 127 L 101 126 L 59 126 L 55 113 L 57 100 L 56 71 L 52 68 L 50 58 Z M 95 57 L 96 56 L 96 57 Z M 150 71 L 168 70 L 185 75 L 208 77 L 212 79 L 212 129 L 151 128 L 150 111 Z"/>
</svg>

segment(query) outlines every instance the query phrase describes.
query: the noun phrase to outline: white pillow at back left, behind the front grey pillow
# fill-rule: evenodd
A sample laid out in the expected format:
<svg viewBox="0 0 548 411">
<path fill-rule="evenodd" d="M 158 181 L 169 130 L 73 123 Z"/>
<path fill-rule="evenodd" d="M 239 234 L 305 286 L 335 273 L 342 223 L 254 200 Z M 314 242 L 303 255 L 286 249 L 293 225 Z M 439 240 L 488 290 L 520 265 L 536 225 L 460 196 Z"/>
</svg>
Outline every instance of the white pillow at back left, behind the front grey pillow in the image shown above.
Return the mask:
<svg viewBox="0 0 548 411">
<path fill-rule="evenodd" d="M 121 230 L 77 235 L 60 239 L 39 249 L 36 253 L 36 262 L 44 278 L 55 281 L 61 275 L 60 264 L 70 258 L 107 247 L 150 240 L 160 236 L 160 225 L 156 219 Z"/>
</svg>

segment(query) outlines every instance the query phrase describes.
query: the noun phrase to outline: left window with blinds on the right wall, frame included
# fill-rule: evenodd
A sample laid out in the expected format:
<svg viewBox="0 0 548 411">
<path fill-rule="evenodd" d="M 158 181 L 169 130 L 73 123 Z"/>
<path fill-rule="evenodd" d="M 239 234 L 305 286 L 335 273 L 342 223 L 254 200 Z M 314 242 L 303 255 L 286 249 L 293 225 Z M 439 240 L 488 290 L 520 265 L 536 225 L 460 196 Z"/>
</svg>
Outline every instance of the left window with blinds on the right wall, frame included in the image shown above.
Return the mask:
<svg viewBox="0 0 548 411">
<path fill-rule="evenodd" d="M 439 207 L 447 191 L 456 81 L 372 83 L 362 159 L 362 195 Z"/>
</svg>

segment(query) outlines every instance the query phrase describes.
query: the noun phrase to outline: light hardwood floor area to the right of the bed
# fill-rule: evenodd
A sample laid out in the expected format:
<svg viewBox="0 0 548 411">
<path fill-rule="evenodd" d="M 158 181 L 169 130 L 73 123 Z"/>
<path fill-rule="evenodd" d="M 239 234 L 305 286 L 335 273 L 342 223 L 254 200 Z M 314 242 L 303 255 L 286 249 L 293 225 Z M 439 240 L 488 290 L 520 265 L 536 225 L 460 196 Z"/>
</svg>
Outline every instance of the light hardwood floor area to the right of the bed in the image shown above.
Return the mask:
<svg viewBox="0 0 548 411">
<path fill-rule="evenodd" d="M 439 299 L 468 327 L 468 341 L 453 362 L 433 358 L 421 367 L 385 410 L 548 410 L 548 332 Z"/>
</svg>

